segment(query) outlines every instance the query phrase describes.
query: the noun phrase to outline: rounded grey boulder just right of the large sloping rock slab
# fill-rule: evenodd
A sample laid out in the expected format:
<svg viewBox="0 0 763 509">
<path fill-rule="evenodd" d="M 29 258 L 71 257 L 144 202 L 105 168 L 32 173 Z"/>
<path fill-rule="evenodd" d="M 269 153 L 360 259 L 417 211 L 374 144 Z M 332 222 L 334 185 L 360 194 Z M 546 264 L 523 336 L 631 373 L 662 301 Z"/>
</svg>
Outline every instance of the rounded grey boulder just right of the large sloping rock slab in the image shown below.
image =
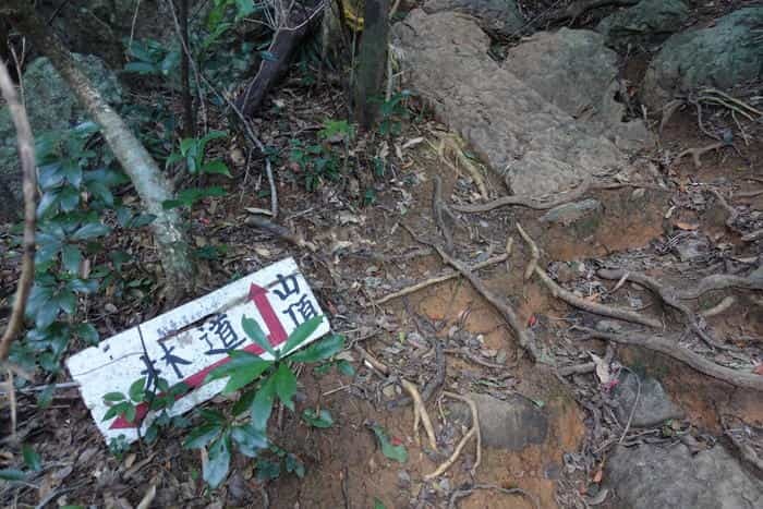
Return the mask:
<svg viewBox="0 0 763 509">
<path fill-rule="evenodd" d="M 617 97 L 627 90 L 618 80 L 617 63 L 617 53 L 601 34 L 561 28 L 534 34 L 511 48 L 504 69 L 592 134 L 605 135 L 626 150 L 650 146 L 652 135 L 641 120 L 622 121 L 626 106 Z"/>
</svg>

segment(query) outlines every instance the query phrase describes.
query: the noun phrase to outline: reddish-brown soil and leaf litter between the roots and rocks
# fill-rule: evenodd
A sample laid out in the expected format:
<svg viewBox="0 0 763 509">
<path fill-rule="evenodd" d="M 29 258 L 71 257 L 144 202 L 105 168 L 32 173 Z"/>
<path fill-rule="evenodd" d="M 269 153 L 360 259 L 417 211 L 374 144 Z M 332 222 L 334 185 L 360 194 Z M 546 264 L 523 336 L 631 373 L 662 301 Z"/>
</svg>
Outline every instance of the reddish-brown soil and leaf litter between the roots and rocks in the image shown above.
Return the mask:
<svg viewBox="0 0 763 509">
<path fill-rule="evenodd" d="M 642 71 L 635 61 L 626 74 L 635 82 Z M 268 104 L 272 108 L 255 128 L 266 145 L 280 145 L 284 153 L 288 140 L 316 143 L 316 126 L 346 113 L 340 90 L 304 86 L 296 78 L 276 90 Z M 532 508 L 532 497 L 544 508 L 583 507 L 596 498 L 597 486 L 606 483 L 602 472 L 607 450 L 614 446 L 613 437 L 617 441 L 626 436 L 631 445 L 645 437 L 667 444 L 687 433 L 704 444 L 726 440 L 726 426 L 735 420 L 763 426 L 760 393 L 735 389 L 665 355 L 610 344 L 610 359 L 658 379 L 685 413 L 682 420 L 671 424 L 680 433 L 670 433 L 662 425 L 628 429 L 625 423 L 608 416 L 608 388 L 602 384 L 601 374 L 589 368 L 558 376 L 532 362 L 501 314 L 461 277 L 377 304 L 393 291 L 449 270 L 436 253 L 403 228 L 428 241 L 443 242 L 433 211 L 436 178 L 441 179 L 446 203 L 468 203 L 475 196 L 469 173 L 447 155 L 445 159 L 450 163 L 446 163 L 436 150 L 447 130 L 428 118 L 415 100 L 409 107 L 414 117 L 401 123 L 399 135 L 367 134 L 354 142 L 351 160 L 355 167 L 347 168 L 338 181 L 325 180 L 317 190 L 307 192 L 298 168 L 287 161 L 276 168 L 278 221 L 313 243 L 315 252 L 246 225 L 251 216 L 247 208 L 267 209 L 269 198 L 263 195 L 267 181 L 259 171 L 262 160 L 240 157 L 242 142 L 237 138 L 215 145 L 233 168 L 233 180 L 223 182 L 228 196 L 207 199 L 192 214 L 197 247 L 226 246 L 223 256 L 203 262 L 199 295 L 237 276 L 293 256 L 328 312 L 334 329 L 348 338 L 350 348 L 344 357 L 355 367 L 354 376 L 304 369 L 299 379 L 298 412 L 303 408 L 328 409 L 334 426 L 308 428 L 298 414 L 281 408 L 270 427 L 275 443 L 304 462 L 304 478 L 283 474 L 263 482 L 256 477 L 251 460 L 237 457 L 227 484 L 210 493 L 198 474 L 202 457 L 181 447 L 180 432 L 116 458 L 105 447 L 76 388 L 57 391 L 52 405 L 44 411 L 36 408 L 33 395 L 19 392 L 17 434 L 41 455 L 44 470 L 34 483 L 3 488 L 3 507 L 50 501 L 51 506 L 132 508 L 152 493 L 152 486 L 157 489 L 150 507 L 392 508 L 425 507 L 427 502 L 448 507 L 451 500 L 455 504 L 458 488 L 472 481 L 520 488 L 531 497 L 473 490 L 459 499 L 458 507 Z M 651 120 L 658 123 L 658 119 Z M 760 242 L 744 242 L 728 227 L 729 209 L 714 191 L 740 217 L 761 221 L 762 134 L 759 129 L 749 133 L 749 143 L 738 141 L 736 149 L 723 147 L 705 154 L 698 168 L 691 157 L 677 159 L 675 155 L 710 142 L 693 111 L 678 111 L 659 136 L 658 147 L 642 155 L 653 162 L 664 187 L 623 185 L 590 192 L 585 197 L 598 199 L 602 210 L 595 220 L 569 226 L 542 222 L 546 210 L 518 206 L 457 213 L 456 220 L 447 226 L 453 234 L 453 256 L 470 265 L 481 263 L 507 253 L 507 242 L 513 239 L 505 262 L 476 274 L 488 290 L 514 305 L 520 322 L 553 353 L 558 366 L 590 364 L 590 353 L 606 356 L 606 341 L 585 339 L 573 330 L 573 326 L 594 327 L 602 317 L 570 307 L 536 277 L 524 277 L 531 251 L 518 234 L 517 223 L 541 249 L 540 266 L 568 290 L 589 302 L 628 308 L 637 302 L 635 308 L 644 316 L 681 328 L 681 316 L 651 292 L 630 282 L 604 280 L 596 269 L 616 266 L 644 271 L 668 287 L 689 290 L 704 276 L 756 266 Z M 666 156 L 669 154 L 673 157 Z M 386 161 L 383 174 L 371 170 L 375 157 Z M 502 189 L 498 179 L 484 177 L 489 189 Z M 135 274 L 150 274 L 155 259 L 148 233 L 114 242 L 136 253 L 138 262 L 132 267 Z M 15 274 L 16 267 L 0 267 L 3 284 L 10 284 Z M 156 293 L 148 291 L 125 300 L 119 310 L 106 305 L 108 298 L 95 301 L 88 319 L 102 337 L 108 337 L 160 313 L 164 303 L 153 295 Z M 710 292 L 692 307 L 710 310 L 731 295 L 731 307 L 706 322 L 716 339 L 734 350 L 710 349 L 694 337 L 686 341 L 716 362 L 751 362 L 760 367 L 760 295 Z M 444 352 L 444 363 L 436 354 L 436 342 Z M 387 366 L 390 375 L 364 362 L 362 351 Z M 500 400 L 521 395 L 547 419 L 547 434 L 521 450 L 483 447 L 473 477 L 472 441 L 447 476 L 425 485 L 423 476 L 447 455 L 432 453 L 424 434 L 414 434 L 412 407 L 388 409 L 387 404 L 400 396 L 396 380 L 404 377 L 421 388 L 443 367 L 445 378 L 439 386 L 445 390 L 481 392 Z M 225 398 L 218 397 L 209 404 L 225 403 Z M 447 398 L 433 398 L 427 407 L 443 450 L 452 451 L 465 429 L 453 416 L 458 412 Z M 10 422 L 4 417 L 1 424 L 7 429 Z M 379 424 L 392 441 L 408 449 L 405 463 L 379 450 L 368 428 L 372 423 Z M 759 453 L 763 451 L 763 443 L 750 441 L 750 446 Z M 10 463 L 13 458 L 1 460 Z M 617 502 L 608 499 L 602 507 L 617 507 Z"/>
</svg>

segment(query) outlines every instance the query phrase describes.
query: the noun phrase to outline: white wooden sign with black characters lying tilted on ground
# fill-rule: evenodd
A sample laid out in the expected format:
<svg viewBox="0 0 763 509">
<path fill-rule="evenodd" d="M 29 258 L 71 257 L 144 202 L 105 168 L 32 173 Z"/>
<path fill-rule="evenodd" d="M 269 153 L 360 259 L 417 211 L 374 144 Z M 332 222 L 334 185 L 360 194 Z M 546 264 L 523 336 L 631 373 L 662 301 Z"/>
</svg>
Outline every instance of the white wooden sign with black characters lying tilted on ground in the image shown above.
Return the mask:
<svg viewBox="0 0 763 509">
<path fill-rule="evenodd" d="M 157 377 L 170 386 L 184 383 L 192 390 L 172 407 L 170 414 L 178 415 L 222 390 L 226 379 L 203 381 L 230 360 L 228 351 L 271 359 L 243 331 L 244 316 L 256 319 L 274 349 L 280 350 L 299 325 L 323 312 L 294 260 L 287 258 L 69 357 L 69 372 L 80 383 L 82 398 L 106 439 L 138 438 L 136 424 L 124 416 L 104 421 L 109 410 L 104 396 L 109 392 L 126 395 L 142 377 L 147 389 Z M 328 331 L 324 318 L 302 346 Z M 138 405 L 135 421 L 143 431 L 150 424 L 145 403 Z"/>
</svg>

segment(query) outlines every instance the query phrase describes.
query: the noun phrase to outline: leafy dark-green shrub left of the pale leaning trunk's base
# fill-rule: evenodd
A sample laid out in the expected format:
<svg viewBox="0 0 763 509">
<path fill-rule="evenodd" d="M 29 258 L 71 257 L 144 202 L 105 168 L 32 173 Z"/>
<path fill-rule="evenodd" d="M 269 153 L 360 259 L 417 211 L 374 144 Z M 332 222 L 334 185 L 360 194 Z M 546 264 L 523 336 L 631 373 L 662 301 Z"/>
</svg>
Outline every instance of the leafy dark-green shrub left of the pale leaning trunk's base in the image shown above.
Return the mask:
<svg viewBox="0 0 763 509">
<path fill-rule="evenodd" d="M 85 276 L 85 258 L 99 259 L 101 243 L 112 227 L 104 222 L 111 211 L 130 216 L 125 227 L 145 226 L 154 217 L 135 215 L 111 190 L 128 182 L 110 168 L 113 158 L 98 148 L 98 128 L 85 122 L 69 131 L 37 136 L 40 201 L 35 281 L 27 301 L 34 328 L 16 341 L 11 360 L 20 366 L 58 373 L 72 340 L 98 342 L 96 328 L 77 315 L 82 295 L 97 291 L 108 268 L 95 264 Z M 119 213 L 118 213 L 119 216 Z"/>
</svg>

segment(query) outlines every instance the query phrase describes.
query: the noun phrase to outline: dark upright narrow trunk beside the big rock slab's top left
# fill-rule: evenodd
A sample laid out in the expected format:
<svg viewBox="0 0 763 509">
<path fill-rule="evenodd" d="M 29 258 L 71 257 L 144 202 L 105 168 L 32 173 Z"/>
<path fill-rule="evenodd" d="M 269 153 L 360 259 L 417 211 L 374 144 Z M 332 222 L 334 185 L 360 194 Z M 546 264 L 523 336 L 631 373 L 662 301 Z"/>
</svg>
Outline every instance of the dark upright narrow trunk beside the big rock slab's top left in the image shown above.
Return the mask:
<svg viewBox="0 0 763 509">
<path fill-rule="evenodd" d="M 354 99 L 355 119 L 366 130 L 374 125 L 383 97 L 389 37 L 388 13 L 389 0 L 365 0 Z"/>
</svg>

